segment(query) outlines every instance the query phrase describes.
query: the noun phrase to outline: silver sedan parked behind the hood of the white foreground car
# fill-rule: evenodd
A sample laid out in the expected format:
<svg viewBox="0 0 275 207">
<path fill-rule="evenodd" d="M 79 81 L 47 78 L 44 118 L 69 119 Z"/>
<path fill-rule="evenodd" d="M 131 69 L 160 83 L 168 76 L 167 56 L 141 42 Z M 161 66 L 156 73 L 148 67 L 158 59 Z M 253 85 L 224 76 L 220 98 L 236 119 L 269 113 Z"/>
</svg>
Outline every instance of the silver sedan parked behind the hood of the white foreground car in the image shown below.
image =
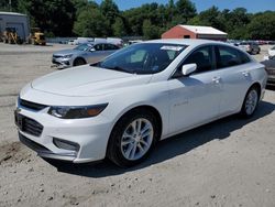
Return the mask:
<svg viewBox="0 0 275 207">
<path fill-rule="evenodd" d="M 80 44 L 73 50 L 63 50 L 54 53 L 52 63 L 58 68 L 85 65 L 99 62 L 118 50 L 117 45 L 110 43 Z"/>
</svg>

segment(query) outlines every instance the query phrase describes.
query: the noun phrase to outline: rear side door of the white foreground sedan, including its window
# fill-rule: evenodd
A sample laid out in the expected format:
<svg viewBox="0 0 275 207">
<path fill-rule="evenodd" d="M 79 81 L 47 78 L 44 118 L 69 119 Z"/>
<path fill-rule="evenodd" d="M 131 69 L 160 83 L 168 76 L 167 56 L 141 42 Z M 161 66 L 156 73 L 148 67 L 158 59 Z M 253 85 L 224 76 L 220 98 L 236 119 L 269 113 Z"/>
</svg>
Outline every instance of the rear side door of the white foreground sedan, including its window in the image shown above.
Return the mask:
<svg viewBox="0 0 275 207">
<path fill-rule="evenodd" d="M 233 47 L 216 46 L 217 70 L 222 83 L 222 95 L 220 113 L 228 115 L 237 112 L 243 102 L 246 90 L 250 86 L 251 59 L 246 53 Z"/>
</svg>

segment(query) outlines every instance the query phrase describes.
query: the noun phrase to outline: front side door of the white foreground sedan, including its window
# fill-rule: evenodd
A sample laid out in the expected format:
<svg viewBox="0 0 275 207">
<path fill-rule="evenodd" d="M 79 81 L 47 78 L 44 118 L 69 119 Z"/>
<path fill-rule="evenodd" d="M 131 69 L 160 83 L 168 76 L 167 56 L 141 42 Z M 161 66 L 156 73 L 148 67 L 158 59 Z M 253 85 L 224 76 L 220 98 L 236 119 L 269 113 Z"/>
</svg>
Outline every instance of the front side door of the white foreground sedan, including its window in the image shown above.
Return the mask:
<svg viewBox="0 0 275 207">
<path fill-rule="evenodd" d="M 197 70 L 177 77 L 182 66 L 190 63 L 197 64 Z M 219 116 L 221 83 L 215 65 L 213 46 L 202 46 L 194 51 L 168 80 L 172 133 Z"/>
</svg>

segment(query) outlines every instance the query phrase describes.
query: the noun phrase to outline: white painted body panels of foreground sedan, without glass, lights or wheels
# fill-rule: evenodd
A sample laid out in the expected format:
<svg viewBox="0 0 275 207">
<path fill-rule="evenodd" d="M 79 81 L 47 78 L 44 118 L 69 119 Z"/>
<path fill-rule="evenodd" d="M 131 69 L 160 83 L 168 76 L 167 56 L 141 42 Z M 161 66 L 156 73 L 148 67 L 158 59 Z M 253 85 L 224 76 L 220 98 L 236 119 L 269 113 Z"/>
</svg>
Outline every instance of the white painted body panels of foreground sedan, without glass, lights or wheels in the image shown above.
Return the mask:
<svg viewBox="0 0 275 207">
<path fill-rule="evenodd" d="M 55 72 L 28 84 L 20 98 L 46 106 L 88 106 L 108 103 L 97 117 L 59 119 L 46 107 L 32 111 L 16 103 L 18 112 L 40 122 L 40 137 L 19 129 L 20 134 L 48 149 L 61 160 L 75 163 L 102 160 L 116 122 L 139 106 L 155 108 L 162 118 L 161 139 L 237 113 L 253 84 L 260 84 L 263 97 L 266 84 L 264 66 L 250 63 L 190 76 L 172 78 L 175 68 L 201 45 L 227 45 L 202 40 L 157 40 L 147 43 L 189 45 L 166 69 L 147 75 L 128 74 L 89 65 Z M 142 44 L 147 44 L 142 43 Z M 231 46 L 233 47 L 233 46 Z M 235 47 L 233 47 L 235 48 Z M 238 48 L 237 48 L 238 50 Z M 75 156 L 53 143 L 58 138 L 79 144 Z"/>
</svg>

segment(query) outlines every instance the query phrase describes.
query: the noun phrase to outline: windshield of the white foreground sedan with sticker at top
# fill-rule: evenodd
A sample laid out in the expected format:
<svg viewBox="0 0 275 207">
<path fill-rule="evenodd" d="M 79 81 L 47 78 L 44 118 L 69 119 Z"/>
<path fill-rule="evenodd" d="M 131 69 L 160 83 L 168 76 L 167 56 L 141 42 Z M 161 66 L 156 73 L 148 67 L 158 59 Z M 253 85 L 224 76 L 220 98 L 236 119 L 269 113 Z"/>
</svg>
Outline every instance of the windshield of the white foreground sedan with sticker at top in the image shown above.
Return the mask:
<svg viewBox="0 0 275 207">
<path fill-rule="evenodd" d="M 128 46 L 96 66 L 132 74 L 155 74 L 164 70 L 187 46 L 164 43 L 141 43 Z"/>
</svg>

